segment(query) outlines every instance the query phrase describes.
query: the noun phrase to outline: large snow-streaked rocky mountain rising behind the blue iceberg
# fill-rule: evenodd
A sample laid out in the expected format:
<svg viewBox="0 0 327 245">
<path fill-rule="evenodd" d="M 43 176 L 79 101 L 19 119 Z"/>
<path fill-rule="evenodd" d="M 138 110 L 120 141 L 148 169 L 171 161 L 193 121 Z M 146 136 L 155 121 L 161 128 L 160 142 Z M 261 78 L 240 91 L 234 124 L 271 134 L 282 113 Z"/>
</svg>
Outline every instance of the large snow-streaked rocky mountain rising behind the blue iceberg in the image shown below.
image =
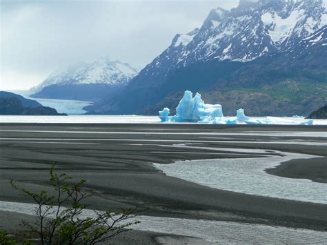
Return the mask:
<svg viewBox="0 0 327 245">
<path fill-rule="evenodd" d="M 326 24 L 326 0 L 240 0 L 239 6 L 230 11 L 217 8 L 210 11 L 200 28 L 176 35 L 171 45 L 143 68 L 121 95 L 96 104 L 92 110 L 156 114 L 163 101 L 173 101 L 179 97 L 175 94 L 184 90 L 201 90 L 206 97 L 207 92 L 251 89 L 255 97 L 266 97 L 267 103 L 273 105 L 278 99 L 282 103 L 279 95 L 288 96 L 284 91 L 275 95 L 277 89 L 285 88 L 277 84 L 294 81 L 299 88 L 291 89 L 303 99 L 302 107 L 295 104 L 301 100 L 298 97 L 285 97 L 285 108 L 280 106 L 279 111 L 271 112 L 272 106 L 255 115 L 289 115 L 293 102 L 297 109 L 293 111 L 304 114 L 325 103 L 321 91 L 327 89 Z M 313 86 L 317 81 L 318 86 Z M 309 85 L 299 86 L 304 82 Z M 277 88 L 273 88 L 274 84 Z M 319 91 L 313 95 L 301 90 L 308 86 Z M 312 102 L 304 103 L 313 96 Z M 250 104 L 262 105 L 255 97 L 248 102 L 244 102 L 248 97 L 237 101 L 249 111 Z M 210 102 L 223 104 L 229 110 L 224 97 Z M 235 110 L 237 106 L 230 108 Z"/>
</svg>

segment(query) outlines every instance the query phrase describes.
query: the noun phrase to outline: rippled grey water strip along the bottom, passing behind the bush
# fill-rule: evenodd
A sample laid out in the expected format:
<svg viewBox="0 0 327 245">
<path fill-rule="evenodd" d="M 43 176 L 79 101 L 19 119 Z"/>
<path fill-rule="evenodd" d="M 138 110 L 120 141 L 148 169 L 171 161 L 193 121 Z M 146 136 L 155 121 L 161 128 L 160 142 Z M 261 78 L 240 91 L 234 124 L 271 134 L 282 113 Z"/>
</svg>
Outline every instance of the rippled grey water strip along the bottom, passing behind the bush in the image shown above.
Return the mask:
<svg viewBox="0 0 327 245">
<path fill-rule="evenodd" d="M 3 211 L 35 215 L 34 208 L 34 204 L 0 201 L 0 210 Z M 82 215 L 93 217 L 95 213 L 84 210 Z M 325 232 L 261 224 L 143 215 L 128 219 L 128 222 L 133 220 L 141 222 L 129 227 L 135 230 L 197 237 L 219 244 L 324 244 L 327 239 Z"/>
</svg>

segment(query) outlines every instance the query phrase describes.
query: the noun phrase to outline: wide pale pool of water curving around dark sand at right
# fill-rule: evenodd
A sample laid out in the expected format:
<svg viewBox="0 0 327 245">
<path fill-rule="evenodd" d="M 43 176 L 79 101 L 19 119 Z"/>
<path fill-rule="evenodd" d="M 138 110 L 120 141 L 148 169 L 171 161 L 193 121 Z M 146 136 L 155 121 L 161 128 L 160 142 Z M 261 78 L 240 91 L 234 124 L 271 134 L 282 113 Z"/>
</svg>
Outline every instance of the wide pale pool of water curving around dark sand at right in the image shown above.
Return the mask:
<svg viewBox="0 0 327 245">
<path fill-rule="evenodd" d="M 264 171 L 266 168 L 278 166 L 283 161 L 313 157 L 295 153 L 282 154 L 285 156 L 177 161 L 174 164 L 154 166 L 168 176 L 211 188 L 327 204 L 327 184 L 311 182 L 308 179 L 279 177 Z"/>
</svg>

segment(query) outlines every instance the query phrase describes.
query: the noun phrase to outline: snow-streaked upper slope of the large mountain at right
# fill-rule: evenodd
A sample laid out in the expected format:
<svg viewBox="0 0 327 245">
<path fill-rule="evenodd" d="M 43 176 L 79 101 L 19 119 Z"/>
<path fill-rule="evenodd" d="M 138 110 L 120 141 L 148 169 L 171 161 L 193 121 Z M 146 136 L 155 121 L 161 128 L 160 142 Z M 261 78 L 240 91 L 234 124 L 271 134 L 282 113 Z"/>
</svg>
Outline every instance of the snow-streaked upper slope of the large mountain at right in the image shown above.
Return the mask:
<svg viewBox="0 0 327 245">
<path fill-rule="evenodd" d="M 212 59 L 252 61 L 292 50 L 327 24 L 326 0 L 241 0 L 237 8 L 212 10 L 199 29 L 176 35 L 140 75 Z"/>
</svg>

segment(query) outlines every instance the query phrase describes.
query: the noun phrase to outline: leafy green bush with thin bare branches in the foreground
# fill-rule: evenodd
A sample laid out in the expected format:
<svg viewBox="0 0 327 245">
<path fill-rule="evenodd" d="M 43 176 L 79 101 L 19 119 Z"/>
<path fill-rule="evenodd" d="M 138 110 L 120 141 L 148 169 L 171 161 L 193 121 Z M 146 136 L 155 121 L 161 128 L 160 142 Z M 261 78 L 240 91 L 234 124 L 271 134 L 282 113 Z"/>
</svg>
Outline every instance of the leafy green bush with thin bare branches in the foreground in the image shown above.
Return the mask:
<svg viewBox="0 0 327 245">
<path fill-rule="evenodd" d="M 65 173 L 54 173 L 54 166 L 52 164 L 50 167 L 50 184 L 55 195 L 50 195 L 46 190 L 34 193 L 10 180 L 13 188 L 31 197 L 37 204 L 37 221 L 32 224 L 23 221 L 22 224 L 39 235 L 41 244 L 97 244 L 127 231 L 126 227 L 139 223 L 126 220 L 135 217 L 137 208 L 121 208 L 120 212 L 94 211 L 92 217 L 83 217 L 86 210 L 83 201 L 90 197 L 83 192 L 86 181 L 81 179 L 73 183 L 72 177 Z"/>
</svg>

